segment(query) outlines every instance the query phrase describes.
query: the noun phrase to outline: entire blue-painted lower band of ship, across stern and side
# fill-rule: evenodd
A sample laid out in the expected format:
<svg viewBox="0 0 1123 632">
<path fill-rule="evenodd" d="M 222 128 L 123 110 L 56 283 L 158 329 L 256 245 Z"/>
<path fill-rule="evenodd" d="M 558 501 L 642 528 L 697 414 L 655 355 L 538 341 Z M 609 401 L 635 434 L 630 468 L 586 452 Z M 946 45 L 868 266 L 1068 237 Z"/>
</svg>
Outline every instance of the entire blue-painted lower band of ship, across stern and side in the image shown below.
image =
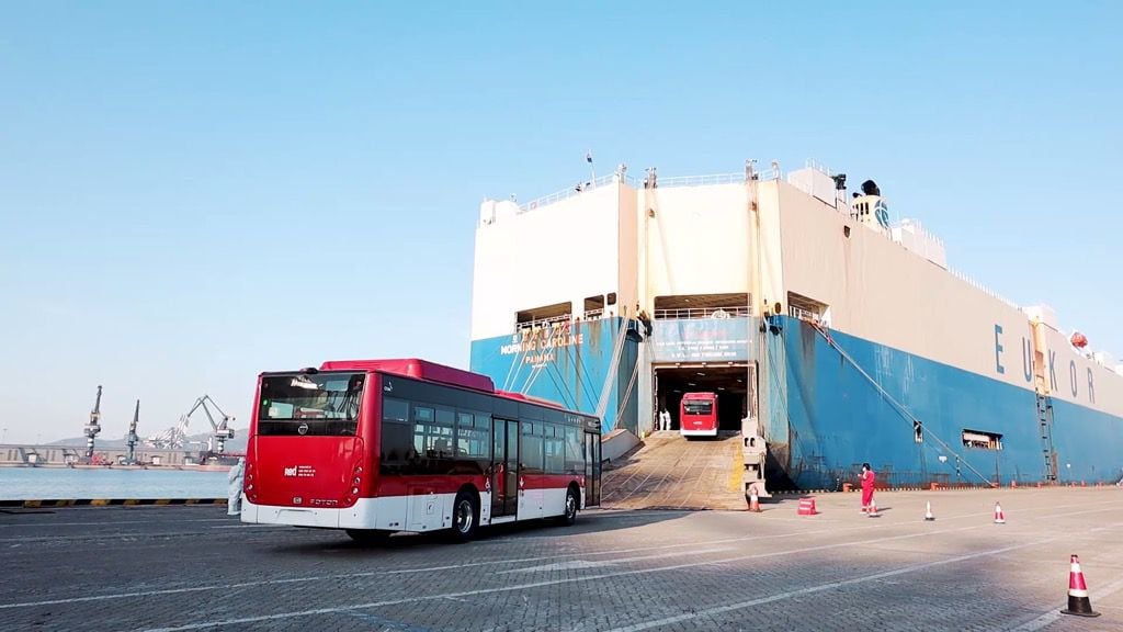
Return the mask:
<svg viewBox="0 0 1123 632">
<path fill-rule="evenodd" d="M 892 487 L 1048 480 L 1038 398 L 1030 388 L 830 332 L 851 363 L 815 327 L 789 317 L 775 318 L 778 328 L 765 333 L 751 318 L 657 320 L 647 342 L 632 323 L 613 370 L 622 323 L 576 323 L 546 342 L 474 341 L 471 368 L 497 388 L 590 414 L 608 385 L 608 433 L 640 427 L 633 376 L 649 370 L 636 367 L 640 344 L 650 345 L 648 358 L 657 363 L 756 362 L 772 489 L 838 489 L 855 480 L 862 462 Z M 1123 418 L 1059 399 L 1051 405 L 1059 481 L 1120 480 Z M 922 424 L 920 441 L 914 418 Z M 1001 435 L 1001 449 L 964 445 L 965 430 Z"/>
</svg>

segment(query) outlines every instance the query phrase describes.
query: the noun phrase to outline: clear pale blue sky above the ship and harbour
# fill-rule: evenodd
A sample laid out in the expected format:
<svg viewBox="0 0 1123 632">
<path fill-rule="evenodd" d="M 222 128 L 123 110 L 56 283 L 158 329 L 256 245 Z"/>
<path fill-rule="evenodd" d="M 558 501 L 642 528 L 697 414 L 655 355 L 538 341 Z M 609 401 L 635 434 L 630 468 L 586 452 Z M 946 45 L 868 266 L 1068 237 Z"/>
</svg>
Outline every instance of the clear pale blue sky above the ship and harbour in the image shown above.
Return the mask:
<svg viewBox="0 0 1123 632">
<path fill-rule="evenodd" d="M 874 178 L 1123 355 L 1123 6 L 789 4 L 4 3 L 4 437 L 79 435 L 99 383 L 119 437 L 203 392 L 244 427 L 262 370 L 466 367 L 480 201 L 588 148 Z"/>
</svg>

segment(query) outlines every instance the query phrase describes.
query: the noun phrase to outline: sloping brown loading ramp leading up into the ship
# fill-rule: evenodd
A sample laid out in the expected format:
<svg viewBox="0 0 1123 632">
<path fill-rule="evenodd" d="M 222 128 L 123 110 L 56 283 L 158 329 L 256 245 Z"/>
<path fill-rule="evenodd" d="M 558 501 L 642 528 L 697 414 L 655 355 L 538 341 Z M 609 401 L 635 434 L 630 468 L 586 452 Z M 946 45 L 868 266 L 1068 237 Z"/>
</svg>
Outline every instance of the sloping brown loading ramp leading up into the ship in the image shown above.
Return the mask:
<svg viewBox="0 0 1123 632">
<path fill-rule="evenodd" d="M 605 463 L 601 507 L 614 509 L 746 508 L 741 433 L 687 441 L 658 431 L 619 461 Z"/>
</svg>

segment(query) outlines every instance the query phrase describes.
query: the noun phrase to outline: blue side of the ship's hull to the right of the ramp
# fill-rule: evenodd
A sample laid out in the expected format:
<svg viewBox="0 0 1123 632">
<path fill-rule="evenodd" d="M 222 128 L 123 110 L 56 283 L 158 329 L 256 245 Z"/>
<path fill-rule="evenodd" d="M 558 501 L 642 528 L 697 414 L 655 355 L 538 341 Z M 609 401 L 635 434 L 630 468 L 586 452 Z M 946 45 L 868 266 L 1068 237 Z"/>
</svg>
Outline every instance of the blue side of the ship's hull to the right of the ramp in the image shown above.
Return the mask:
<svg viewBox="0 0 1123 632">
<path fill-rule="evenodd" d="M 1021 485 L 1047 480 L 1037 395 L 1026 388 L 783 317 L 767 341 L 761 407 L 775 479 L 836 489 L 869 462 L 889 486 Z M 902 412 L 874 383 L 898 403 Z M 1115 482 L 1123 418 L 1052 399 L 1052 445 L 1061 482 Z M 923 425 L 917 441 L 913 419 Z M 964 445 L 965 430 L 1002 435 L 1001 450 Z M 944 457 L 941 459 L 940 457 Z"/>
</svg>

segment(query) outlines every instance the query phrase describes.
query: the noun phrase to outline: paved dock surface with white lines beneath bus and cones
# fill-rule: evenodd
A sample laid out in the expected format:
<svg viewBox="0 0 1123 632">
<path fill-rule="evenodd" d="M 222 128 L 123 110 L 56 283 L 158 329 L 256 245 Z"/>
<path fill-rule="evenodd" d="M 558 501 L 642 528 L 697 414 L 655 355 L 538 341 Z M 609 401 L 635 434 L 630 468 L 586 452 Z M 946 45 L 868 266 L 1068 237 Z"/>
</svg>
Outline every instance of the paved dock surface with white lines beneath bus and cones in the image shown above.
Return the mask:
<svg viewBox="0 0 1123 632">
<path fill-rule="evenodd" d="M 1123 489 L 876 500 L 876 518 L 827 494 L 814 516 L 797 497 L 599 509 L 382 547 L 222 506 L 8 508 L 0 630 L 1123 630 Z M 1060 614 L 1074 553 L 1097 619 Z"/>
</svg>

